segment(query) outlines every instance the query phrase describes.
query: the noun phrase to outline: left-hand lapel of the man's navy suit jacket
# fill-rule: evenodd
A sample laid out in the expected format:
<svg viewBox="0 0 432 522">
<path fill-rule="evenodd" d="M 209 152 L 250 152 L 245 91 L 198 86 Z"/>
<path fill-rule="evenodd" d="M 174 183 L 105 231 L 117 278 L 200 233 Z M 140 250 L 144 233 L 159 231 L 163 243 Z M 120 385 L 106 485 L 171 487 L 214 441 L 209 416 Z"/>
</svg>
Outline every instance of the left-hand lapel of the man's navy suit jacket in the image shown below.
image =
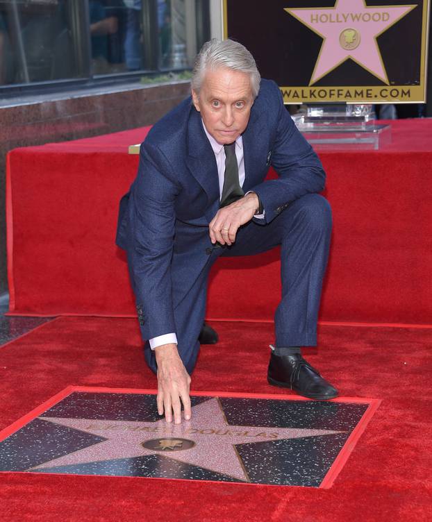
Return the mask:
<svg viewBox="0 0 432 522">
<path fill-rule="evenodd" d="M 213 219 L 219 208 L 219 178 L 215 154 L 203 129 L 201 115 L 192 107 L 188 125 L 188 167 L 207 194 L 206 217 Z"/>
</svg>

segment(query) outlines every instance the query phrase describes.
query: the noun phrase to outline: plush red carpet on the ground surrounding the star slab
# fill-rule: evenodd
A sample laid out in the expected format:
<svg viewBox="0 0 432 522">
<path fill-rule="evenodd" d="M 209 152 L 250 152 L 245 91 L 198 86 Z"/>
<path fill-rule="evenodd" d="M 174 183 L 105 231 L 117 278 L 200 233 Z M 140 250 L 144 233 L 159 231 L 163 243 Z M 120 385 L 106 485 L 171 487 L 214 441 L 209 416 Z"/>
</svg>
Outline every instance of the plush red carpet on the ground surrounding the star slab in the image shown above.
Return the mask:
<svg viewBox="0 0 432 522">
<path fill-rule="evenodd" d="M 269 323 L 215 322 L 194 390 L 287 393 L 265 381 Z M 322 326 L 310 362 L 342 396 L 383 399 L 331 489 L 0 475 L 0 518 L 84 521 L 431 520 L 431 328 Z M 0 430 L 68 385 L 154 388 L 133 319 L 64 317 L 1 348 Z"/>
</svg>

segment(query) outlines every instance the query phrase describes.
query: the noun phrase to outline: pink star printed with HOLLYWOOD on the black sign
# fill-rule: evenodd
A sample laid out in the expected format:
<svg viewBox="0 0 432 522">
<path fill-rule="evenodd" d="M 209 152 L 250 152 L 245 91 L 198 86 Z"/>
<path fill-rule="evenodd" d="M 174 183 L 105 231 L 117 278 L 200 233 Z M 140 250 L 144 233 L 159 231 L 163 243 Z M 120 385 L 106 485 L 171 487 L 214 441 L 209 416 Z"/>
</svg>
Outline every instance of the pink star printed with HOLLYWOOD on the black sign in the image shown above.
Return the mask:
<svg viewBox="0 0 432 522">
<path fill-rule="evenodd" d="M 309 85 L 348 58 L 388 84 L 376 37 L 415 7 L 366 6 L 365 0 L 336 0 L 333 8 L 285 8 L 323 38 Z"/>
</svg>

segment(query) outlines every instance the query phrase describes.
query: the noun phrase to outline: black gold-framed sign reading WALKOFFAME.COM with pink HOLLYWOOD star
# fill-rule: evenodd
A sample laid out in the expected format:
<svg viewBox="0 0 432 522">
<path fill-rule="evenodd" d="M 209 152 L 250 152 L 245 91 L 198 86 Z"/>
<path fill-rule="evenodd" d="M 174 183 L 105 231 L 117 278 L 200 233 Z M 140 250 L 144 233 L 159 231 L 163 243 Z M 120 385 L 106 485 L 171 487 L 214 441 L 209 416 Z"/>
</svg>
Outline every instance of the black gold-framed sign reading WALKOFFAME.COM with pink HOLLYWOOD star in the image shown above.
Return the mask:
<svg viewBox="0 0 432 522">
<path fill-rule="evenodd" d="M 427 0 L 224 0 L 242 42 L 285 103 L 425 101 Z"/>
</svg>

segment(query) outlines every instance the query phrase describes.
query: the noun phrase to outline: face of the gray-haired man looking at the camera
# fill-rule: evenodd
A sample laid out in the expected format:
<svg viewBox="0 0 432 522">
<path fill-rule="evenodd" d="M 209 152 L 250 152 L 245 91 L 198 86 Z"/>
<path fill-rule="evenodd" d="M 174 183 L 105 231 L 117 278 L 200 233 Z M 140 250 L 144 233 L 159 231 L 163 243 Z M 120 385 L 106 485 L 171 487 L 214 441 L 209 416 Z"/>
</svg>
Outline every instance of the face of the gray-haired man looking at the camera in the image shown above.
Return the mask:
<svg viewBox="0 0 432 522">
<path fill-rule="evenodd" d="M 233 143 L 247 127 L 254 104 L 250 76 L 226 67 L 208 70 L 192 99 L 208 133 L 220 144 Z"/>
</svg>

